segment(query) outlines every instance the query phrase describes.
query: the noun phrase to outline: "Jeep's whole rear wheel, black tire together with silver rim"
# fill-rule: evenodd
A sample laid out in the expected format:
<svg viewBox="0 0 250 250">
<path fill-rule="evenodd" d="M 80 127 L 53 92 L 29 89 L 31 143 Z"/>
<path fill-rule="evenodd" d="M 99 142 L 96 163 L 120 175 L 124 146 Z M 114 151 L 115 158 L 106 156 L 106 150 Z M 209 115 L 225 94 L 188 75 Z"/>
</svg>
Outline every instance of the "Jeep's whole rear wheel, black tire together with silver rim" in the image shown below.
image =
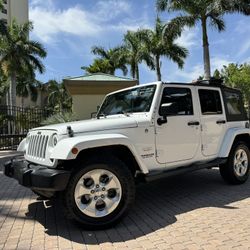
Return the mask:
<svg viewBox="0 0 250 250">
<path fill-rule="evenodd" d="M 228 162 L 220 166 L 220 173 L 230 184 L 246 182 L 250 173 L 250 152 L 245 142 L 238 142 L 232 147 Z"/>
</svg>

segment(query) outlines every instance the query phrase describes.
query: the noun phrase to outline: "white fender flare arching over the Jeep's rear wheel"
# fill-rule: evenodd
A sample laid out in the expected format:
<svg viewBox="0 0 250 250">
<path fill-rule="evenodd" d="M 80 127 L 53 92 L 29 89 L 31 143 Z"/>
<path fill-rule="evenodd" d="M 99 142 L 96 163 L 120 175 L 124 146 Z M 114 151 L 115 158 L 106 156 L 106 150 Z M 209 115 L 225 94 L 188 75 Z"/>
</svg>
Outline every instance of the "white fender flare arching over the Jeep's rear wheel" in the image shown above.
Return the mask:
<svg viewBox="0 0 250 250">
<path fill-rule="evenodd" d="M 250 135 L 250 131 L 248 128 L 230 128 L 227 130 L 223 143 L 220 148 L 219 157 L 226 158 L 228 157 L 230 150 L 233 146 L 234 140 L 237 135 L 248 134 Z"/>
</svg>

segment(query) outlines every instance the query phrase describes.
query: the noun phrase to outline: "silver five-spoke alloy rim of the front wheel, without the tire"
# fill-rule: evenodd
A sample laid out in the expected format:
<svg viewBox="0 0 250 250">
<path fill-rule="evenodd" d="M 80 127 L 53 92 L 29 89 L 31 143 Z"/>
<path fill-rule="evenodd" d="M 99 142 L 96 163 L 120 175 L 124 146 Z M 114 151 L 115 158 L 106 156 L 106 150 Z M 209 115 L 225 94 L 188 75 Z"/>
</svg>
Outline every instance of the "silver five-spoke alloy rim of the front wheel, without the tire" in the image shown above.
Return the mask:
<svg viewBox="0 0 250 250">
<path fill-rule="evenodd" d="M 95 169 L 84 174 L 75 186 L 75 203 L 90 217 L 104 217 L 118 206 L 122 187 L 109 170 Z"/>
</svg>

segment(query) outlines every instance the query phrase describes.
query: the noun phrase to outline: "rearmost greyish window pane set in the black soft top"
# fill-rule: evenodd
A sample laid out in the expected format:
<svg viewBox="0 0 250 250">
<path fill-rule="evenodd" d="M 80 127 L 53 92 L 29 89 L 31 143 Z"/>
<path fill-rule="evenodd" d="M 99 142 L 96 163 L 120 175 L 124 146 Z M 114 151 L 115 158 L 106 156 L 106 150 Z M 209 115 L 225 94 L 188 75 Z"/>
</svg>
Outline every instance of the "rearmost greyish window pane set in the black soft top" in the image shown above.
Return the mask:
<svg viewBox="0 0 250 250">
<path fill-rule="evenodd" d="M 241 115 L 241 97 L 239 93 L 224 91 L 225 103 L 229 115 Z"/>
</svg>

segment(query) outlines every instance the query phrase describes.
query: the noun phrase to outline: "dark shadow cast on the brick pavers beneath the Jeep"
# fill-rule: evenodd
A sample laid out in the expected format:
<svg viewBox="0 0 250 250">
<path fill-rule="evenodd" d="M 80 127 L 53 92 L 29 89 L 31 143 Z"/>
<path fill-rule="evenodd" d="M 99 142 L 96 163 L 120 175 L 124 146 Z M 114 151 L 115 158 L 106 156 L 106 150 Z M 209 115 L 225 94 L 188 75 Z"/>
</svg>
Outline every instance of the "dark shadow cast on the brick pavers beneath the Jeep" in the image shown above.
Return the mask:
<svg viewBox="0 0 250 250">
<path fill-rule="evenodd" d="M 206 207 L 237 209 L 231 203 L 246 199 L 250 181 L 230 186 L 218 169 L 202 170 L 162 179 L 137 187 L 134 207 L 118 225 L 102 231 L 86 231 L 65 218 L 59 201 L 36 201 L 28 207 L 26 219 L 41 223 L 48 235 L 83 244 L 133 240 L 177 221 L 176 216 Z"/>
</svg>

